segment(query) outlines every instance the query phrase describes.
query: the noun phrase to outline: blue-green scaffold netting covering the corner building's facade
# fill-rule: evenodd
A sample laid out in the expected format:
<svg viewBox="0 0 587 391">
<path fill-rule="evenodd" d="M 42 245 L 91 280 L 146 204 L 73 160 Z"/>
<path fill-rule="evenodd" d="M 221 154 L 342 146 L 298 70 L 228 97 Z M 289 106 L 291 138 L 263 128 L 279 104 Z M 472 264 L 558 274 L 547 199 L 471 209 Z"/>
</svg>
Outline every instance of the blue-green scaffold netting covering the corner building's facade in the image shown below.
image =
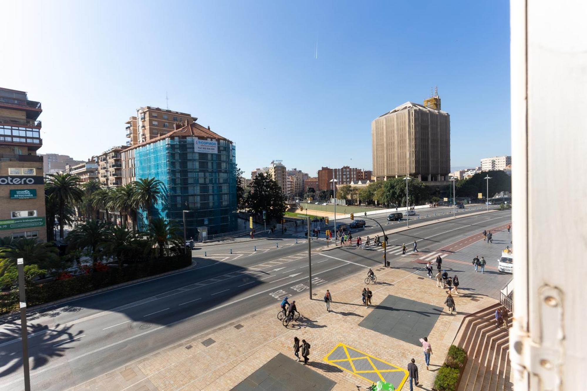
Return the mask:
<svg viewBox="0 0 587 391">
<path fill-rule="evenodd" d="M 139 147 L 134 164 L 137 180 L 154 177 L 163 182 L 163 200 L 151 215 L 175 221 L 183 229 L 183 210 L 189 210 L 186 237 L 195 240 L 197 227 L 207 227 L 208 235 L 237 229 L 237 177 L 234 144 L 218 140 L 218 153 L 197 153 L 194 140 L 168 137 Z M 143 215 L 140 211 L 142 224 Z"/>
</svg>

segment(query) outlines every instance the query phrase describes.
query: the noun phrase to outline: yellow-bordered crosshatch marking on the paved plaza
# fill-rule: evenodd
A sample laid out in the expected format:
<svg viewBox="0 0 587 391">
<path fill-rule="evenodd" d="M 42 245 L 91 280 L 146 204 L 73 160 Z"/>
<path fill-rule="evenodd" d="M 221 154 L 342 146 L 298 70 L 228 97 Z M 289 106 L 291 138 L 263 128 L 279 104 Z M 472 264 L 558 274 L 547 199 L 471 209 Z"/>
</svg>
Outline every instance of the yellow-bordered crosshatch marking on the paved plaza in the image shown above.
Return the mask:
<svg viewBox="0 0 587 391">
<path fill-rule="evenodd" d="M 407 370 L 344 343 L 339 343 L 330 350 L 324 360 L 337 368 L 362 377 L 367 382 L 377 383 L 382 380 L 392 383 L 396 390 L 402 388 L 408 375 Z"/>
</svg>

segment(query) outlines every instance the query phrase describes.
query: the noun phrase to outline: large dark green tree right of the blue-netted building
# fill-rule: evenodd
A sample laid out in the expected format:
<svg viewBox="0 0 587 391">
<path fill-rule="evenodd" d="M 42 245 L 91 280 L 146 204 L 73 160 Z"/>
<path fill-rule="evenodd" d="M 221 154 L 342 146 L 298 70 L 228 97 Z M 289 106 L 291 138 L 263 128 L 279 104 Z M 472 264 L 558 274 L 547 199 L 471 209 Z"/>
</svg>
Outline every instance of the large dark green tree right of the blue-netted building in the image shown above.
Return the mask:
<svg viewBox="0 0 587 391">
<path fill-rule="evenodd" d="M 257 215 L 265 211 L 269 222 L 281 221 L 286 210 L 281 187 L 271 177 L 264 174 L 258 174 L 252 181 L 248 206 Z"/>
</svg>

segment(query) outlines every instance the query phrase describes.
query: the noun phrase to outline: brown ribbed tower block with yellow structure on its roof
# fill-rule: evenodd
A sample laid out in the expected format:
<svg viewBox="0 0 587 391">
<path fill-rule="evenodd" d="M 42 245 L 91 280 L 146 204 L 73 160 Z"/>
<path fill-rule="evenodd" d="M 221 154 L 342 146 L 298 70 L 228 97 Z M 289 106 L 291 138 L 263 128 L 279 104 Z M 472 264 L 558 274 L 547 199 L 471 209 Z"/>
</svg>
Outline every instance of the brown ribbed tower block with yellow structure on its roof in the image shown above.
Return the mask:
<svg viewBox="0 0 587 391">
<path fill-rule="evenodd" d="M 379 179 L 408 174 L 421 181 L 446 181 L 450 173 L 450 116 L 438 95 L 424 105 L 406 102 L 371 123 L 373 174 Z"/>
</svg>

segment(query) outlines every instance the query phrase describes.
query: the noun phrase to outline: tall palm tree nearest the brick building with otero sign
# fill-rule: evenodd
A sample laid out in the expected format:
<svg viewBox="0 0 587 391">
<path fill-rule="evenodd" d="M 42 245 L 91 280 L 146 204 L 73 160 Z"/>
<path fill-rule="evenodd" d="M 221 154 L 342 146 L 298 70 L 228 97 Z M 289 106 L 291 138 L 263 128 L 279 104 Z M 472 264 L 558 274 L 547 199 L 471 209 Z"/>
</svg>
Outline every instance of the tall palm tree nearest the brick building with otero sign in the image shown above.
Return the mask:
<svg viewBox="0 0 587 391">
<path fill-rule="evenodd" d="M 72 174 L 49 174 L 45 180 L 45 191 L 49 197 L 55 197 L 57 215 L 59 216 L 59 236 L 63 238 L 63 224 L 65 223 L 66 205 L 75 204 L 82 200 L 83 190 L 79 187 L 80 179 Z"/>
</svg>

